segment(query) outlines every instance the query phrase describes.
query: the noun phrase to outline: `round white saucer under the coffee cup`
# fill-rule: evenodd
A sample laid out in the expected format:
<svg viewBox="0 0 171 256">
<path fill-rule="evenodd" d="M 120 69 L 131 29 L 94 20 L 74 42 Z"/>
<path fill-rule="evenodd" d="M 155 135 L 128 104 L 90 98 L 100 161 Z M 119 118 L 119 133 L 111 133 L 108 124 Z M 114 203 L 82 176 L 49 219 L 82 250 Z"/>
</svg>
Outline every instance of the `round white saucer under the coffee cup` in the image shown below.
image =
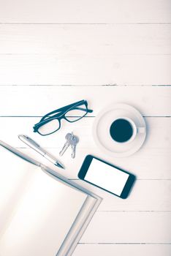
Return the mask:
<svg viewBox="0 0 171 256">
<path fill-rule="evenodd" d="M 118 143 L 110 136 L 110 126 L 115 118 L 131 118 L 137 127 L 145 127 L 145 132 L 137 133 L 130 143 Z M 146 125 L 141 113 L 130 105 L 117 103 L 108 106 L 96 116 L 93 127 L 94 140 L 107 154 L 113 157 L 128 157 L 137 152 L 145 141 Z"/>
</svg>

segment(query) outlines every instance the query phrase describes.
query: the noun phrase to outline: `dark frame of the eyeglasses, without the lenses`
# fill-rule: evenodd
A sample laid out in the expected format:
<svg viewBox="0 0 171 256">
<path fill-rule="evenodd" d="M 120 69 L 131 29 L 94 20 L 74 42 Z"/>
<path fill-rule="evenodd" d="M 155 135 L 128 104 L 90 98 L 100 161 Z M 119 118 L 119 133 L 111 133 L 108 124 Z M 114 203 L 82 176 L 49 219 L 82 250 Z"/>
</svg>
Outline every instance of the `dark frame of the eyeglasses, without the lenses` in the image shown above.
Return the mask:
<svg viewBox="0 0 171 256">
<path fill-rule="evenodd" d="M 85 105 L 86 109 L 84 109 L 84 108 L 77 108 L 80 105 Z M 47 124 L 48 122 L 53 121 L 55 119 L 58 120 L 58 124 L 59 124 L 58 129 L 60 129 L 61 128 L 61 119 L 65 119 L 66 121 L 69 121 L 69 119 L 66 118 L 66 113 L 69 112 L 70 110 L 75 110 L 75 109 L 86 111 L 86 113 L 83 116 L 81 116 L 80 118 L 78 118 L 75 121 L 80 120 L 81 118 L 86 116 L 87 113 L 92 113 L 93 112 L 93 110 L 88 109 L 88 102 L 86 100 L 84 100 L 84 99 L 80 100 L 79 102 L 75 102 L 75 103 L 72 103 L 70 105 L 66 105 L 63 108 L 58 108 L 57 110 L 53 110 L 52 112 L 47 113 L 45 116 L 43 116 L 40 119 L 39 123 L 34 124 L 34 127 L 33 127 L 34 132 L 38 132 L 39 135 L 42 135 L 42 133 L 39 132 L 39 127 L 42 127 L 42 125 Z M 56 113 L 56 115 L 50 116 L 50 115 L 53 115 L 55 113 Z M 69 123 L 74 123 L 75 121 L 69 121 Z M 58 129 L 56 129 L 53 132 L 47 133 L 45 135 L 42 135 L 42 136 L 53 134 L 54 132 L 57 132 Z"/>
</svg>

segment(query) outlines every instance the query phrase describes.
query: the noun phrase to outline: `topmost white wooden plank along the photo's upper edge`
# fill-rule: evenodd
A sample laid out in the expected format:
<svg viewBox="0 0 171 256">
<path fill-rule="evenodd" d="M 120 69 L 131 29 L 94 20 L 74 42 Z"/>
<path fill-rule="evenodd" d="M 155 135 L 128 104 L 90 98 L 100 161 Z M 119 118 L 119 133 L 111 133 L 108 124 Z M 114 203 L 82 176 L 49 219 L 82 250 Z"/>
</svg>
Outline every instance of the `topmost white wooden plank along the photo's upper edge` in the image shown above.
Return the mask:
<svg viewBox="0 0 171 256">
<path fill-rule="evenodd" d="M 0 17 L 3 23 L 168 23 L 170 1 L 6 0 Z"/>
</svg>

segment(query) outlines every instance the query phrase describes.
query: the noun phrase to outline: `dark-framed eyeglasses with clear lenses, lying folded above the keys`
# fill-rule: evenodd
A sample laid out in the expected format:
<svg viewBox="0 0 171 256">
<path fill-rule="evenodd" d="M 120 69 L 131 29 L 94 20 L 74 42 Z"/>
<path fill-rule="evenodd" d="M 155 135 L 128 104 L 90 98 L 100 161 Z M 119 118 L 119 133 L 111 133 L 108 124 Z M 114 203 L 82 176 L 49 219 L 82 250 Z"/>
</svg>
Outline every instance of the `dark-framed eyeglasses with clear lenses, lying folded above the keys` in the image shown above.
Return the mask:
<svg viewBox="0 0 171 256">
<path fill-rule="evenodd" d="M 92 112 L 93 110 L 88 109 L 88 102 L 83 99 L 79 102 L 72 103 L 47 113 L 42 117 L 39 123 L 34 125 L 33 129 L 34 132 L 38 132 L 39 135 L 50 135 L 61 128 L 61 119 L 73 123 L 86 116 L 87 113 Z"/>
</svg>

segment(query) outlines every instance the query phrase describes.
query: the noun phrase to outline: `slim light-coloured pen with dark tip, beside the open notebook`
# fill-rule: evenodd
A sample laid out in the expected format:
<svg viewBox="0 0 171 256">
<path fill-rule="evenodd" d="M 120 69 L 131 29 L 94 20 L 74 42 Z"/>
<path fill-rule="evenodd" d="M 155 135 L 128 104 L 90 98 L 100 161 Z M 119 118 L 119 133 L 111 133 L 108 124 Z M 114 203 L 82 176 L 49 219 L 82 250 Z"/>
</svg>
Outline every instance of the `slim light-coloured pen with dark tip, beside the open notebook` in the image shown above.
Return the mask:
<svg viewBox="0 0 171 256">
<path fill-rule="evenodd" d="M 30 148 L 33 148 L 35 151 L 37 151 L 39 154 L 41 154 L 43 157 L 45 157 L 47 160 L 53 163 L 53 165 L 56 165 L 58 167 L 61 167 L 64 169 L 64 165 L 61 164 L 55 157 L 53 157 L 50 153 L 45 151 L 44 148 L 39 146 L 34 140 L 29 138 L 27 135 L 18 135 L 18 138 L 23 141 L 23 143 L 26 143 Z"/>
</svg>

